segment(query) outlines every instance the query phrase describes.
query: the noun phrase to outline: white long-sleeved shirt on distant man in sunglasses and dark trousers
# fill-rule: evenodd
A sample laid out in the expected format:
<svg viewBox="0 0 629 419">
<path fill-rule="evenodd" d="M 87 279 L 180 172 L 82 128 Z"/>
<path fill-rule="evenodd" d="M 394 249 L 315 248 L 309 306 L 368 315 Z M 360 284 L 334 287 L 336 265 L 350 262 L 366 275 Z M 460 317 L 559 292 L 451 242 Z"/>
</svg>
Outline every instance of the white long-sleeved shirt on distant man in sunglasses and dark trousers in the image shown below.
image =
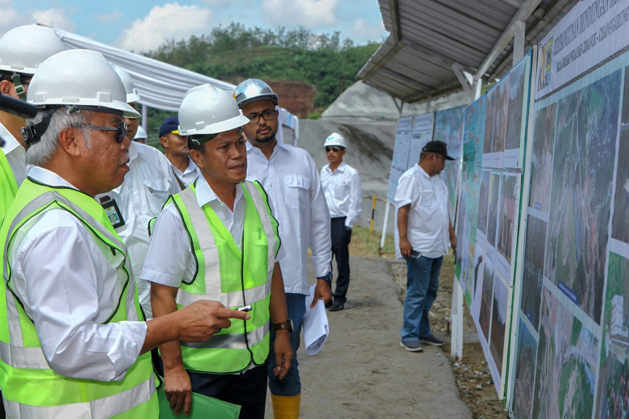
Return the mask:
<svg viewBox="0 0 629 419">
<path fill-rule="evenodd" d="M 341 162 L 332 171 L 330 164 L 321 167 L 321 186 L 330 209 L 330 217 L 347 217 L 345 226 L 352 228 L 362 208 L 362 191 L 358 170 Z"/>
</svg>

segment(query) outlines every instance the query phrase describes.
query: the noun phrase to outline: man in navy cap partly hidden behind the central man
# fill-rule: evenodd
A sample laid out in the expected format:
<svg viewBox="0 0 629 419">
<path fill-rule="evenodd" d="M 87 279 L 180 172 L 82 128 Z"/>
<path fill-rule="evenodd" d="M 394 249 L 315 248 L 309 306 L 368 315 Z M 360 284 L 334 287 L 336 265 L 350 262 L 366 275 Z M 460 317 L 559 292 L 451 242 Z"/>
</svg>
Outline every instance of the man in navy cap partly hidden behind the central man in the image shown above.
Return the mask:
<svg viewBox="0 0 629 419">
<path fill-rule="evenodd" d="M 177 116 L 169 116 L 162 122 L 162 126 L 159 127 L 159 140 L 182 189 L 188 187 L 201 172 L 190 158 L 187 138 L 179 135 Z"/>
</svg>

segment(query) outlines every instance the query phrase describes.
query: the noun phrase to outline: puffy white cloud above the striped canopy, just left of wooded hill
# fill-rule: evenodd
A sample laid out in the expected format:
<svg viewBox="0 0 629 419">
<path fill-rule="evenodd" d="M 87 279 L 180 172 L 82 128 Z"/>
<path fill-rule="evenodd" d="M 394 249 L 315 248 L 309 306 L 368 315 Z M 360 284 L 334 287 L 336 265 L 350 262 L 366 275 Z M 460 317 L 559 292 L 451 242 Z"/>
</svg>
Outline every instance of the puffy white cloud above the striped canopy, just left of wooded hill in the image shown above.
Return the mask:
<svg viewBox="0 0 629 419">
<path fill-rule="evenodd" d="M 199 6 L 180 6 L 179 3 L 155 6 L 148 16 L 136 19 L 123 30 L 116 45 L 125 50 L 152 50 L 166 40 L 207 33 L 212 27 L 211 18 L 210 9 Z"/>
</svg>

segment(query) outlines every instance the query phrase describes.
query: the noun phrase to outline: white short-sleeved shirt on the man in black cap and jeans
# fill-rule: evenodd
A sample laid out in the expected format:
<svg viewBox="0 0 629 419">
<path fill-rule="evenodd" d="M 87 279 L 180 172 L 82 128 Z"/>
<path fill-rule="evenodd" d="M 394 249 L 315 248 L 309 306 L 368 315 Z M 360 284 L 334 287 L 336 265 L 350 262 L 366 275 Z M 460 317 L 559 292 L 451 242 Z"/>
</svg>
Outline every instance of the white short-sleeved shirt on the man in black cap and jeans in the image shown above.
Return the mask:
<svg viewBox="0 0 629 419">
<path fill-rule="evenodd" d="M 395 193 L 395 250 L 399 250 L 398 210 L 411 204 L 407 235 L 413 250 L 425 257 L 440 257 L 448 252 L 448 187 L 438 176 L 428 176 L 420 165 L 406 170 L 398 180 Z"/>
</svg>

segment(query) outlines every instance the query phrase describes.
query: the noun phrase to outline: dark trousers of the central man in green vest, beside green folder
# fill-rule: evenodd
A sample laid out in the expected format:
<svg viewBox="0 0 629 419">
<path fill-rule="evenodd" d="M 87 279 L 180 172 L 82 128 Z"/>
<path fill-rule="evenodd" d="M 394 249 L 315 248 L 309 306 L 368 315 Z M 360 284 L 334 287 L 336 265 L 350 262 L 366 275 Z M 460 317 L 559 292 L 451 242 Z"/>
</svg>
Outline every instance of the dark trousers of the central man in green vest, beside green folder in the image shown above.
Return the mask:
<svg viewBox="0 0 629 419">
<path fill-rule="evenodd" d="M 252 368 L 243 374 L 203 374 L 187 371 L 192 391 L 227 401 L 240 408 L 240 418 L 264 419 L 267 404 L 267 366 Z M 208 412 L 211 417 L 211 412 Z"/>
</svg>

